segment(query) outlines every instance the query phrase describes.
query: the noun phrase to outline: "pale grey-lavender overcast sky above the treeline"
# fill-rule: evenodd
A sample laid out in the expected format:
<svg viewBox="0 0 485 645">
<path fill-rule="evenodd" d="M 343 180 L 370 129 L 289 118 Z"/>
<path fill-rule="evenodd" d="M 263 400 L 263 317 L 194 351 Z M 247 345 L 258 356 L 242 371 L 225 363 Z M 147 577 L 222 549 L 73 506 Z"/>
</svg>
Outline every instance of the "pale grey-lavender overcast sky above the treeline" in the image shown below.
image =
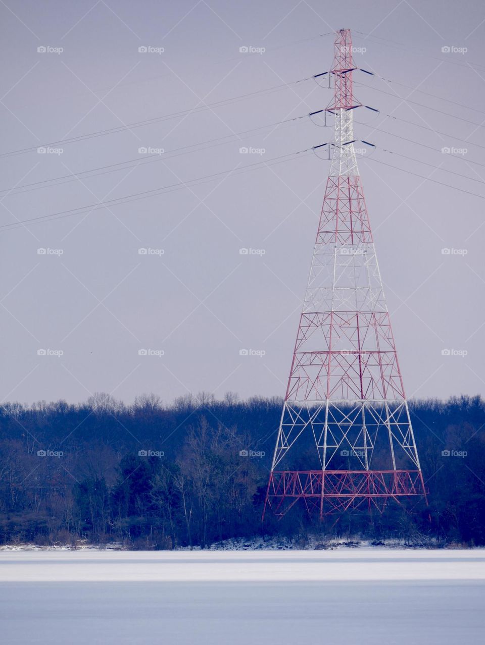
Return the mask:
<svg viewBox="0 0 485 645">
<path fill-rule="evenodd" d="M 355 138 L 406 393 L 484 393 L 483 3 L 0 18 L 0 401 L 284 395 L 329 170 L 312 148 L 333 137 L 313 75 L 340 28 L 375 74 L 354 74 L 379 110 Z"/>
</svg>

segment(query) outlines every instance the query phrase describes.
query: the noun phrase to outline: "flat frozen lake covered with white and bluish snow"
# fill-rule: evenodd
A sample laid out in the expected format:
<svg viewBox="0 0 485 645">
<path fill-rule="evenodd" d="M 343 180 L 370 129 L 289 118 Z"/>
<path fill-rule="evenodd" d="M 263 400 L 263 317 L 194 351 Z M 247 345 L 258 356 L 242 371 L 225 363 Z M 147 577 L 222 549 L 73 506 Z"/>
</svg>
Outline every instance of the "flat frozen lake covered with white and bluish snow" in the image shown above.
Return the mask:
<svg viewBox="0 0 485 645">
<path fill-rule="evenodd" d="M 456 645 L 485 551 L 1 551 L 5 644 Z"/>
</svg>

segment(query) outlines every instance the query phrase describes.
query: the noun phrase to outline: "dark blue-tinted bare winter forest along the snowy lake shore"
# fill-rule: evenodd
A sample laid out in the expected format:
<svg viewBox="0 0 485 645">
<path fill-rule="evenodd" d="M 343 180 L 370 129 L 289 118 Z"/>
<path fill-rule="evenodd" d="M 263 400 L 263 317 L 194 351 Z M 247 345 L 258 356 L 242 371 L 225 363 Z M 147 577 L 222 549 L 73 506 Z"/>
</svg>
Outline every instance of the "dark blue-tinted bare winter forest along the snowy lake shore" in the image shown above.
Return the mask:
<svg viewBox="0 0 485 645">
<path fill-rule="evenodd" d="M 229 538 L 309 535 L 409 545 L 485 544 L 485 402 L 409 402 L 428 506 L 389 504 L 320 521 L 262 506 L 282 400 L 201 392 L 132 405 L 96 393 L 82 404 L 0 406 L 0 543 L 209 548 Z M 296 459 L 302 455 L 296 455 Z"/>
</svg>

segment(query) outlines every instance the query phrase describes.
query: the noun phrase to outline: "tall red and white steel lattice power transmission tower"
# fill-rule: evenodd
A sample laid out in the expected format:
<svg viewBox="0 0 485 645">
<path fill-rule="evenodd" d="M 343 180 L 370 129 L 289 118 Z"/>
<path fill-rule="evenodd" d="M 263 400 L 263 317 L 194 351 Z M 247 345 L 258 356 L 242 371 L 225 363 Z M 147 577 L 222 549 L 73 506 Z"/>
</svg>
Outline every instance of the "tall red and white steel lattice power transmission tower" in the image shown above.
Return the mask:
<svg viewBox="0 0 485 645">
<path fill-rule="evenodd" d="M 282 515 L 299 499 L 320 517 L 426 499 L 352 143 L 354 69 L 342 29 L 327 108 L 335 146 L 264 513 Z"/>
</svg>

